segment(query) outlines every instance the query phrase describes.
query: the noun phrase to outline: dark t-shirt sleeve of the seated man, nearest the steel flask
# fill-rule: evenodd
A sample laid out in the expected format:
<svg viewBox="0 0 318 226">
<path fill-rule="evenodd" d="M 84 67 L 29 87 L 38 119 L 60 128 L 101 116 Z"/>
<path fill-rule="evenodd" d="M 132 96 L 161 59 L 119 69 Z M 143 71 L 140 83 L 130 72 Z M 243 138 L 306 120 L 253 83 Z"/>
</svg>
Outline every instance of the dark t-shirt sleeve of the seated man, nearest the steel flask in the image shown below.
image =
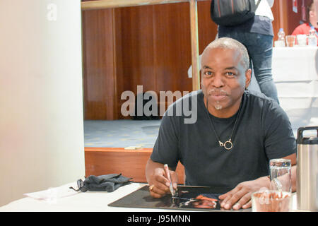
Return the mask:
<svg viewBox="0 0 318 226">
<path fill-rule="evenodd" d="M 296 153 L 295 136 L 284 110 L 271 102 L 264 115 L 264 146 L 269 160 Z"/>
</svg>

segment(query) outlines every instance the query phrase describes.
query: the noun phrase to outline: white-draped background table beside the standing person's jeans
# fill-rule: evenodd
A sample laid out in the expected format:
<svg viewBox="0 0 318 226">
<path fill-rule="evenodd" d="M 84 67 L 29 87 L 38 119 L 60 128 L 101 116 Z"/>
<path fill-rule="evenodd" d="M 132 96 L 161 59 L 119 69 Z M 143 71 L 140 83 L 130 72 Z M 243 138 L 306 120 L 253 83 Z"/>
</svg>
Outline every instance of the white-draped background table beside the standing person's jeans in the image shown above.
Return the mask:
<svg viewBox="0 0 318 226">
<path fill-rule="evenodd" d="M 317 126 L 318 47 L 274 47 L 272 69 L 294 133 L 300 126 Z"/>
</svg>

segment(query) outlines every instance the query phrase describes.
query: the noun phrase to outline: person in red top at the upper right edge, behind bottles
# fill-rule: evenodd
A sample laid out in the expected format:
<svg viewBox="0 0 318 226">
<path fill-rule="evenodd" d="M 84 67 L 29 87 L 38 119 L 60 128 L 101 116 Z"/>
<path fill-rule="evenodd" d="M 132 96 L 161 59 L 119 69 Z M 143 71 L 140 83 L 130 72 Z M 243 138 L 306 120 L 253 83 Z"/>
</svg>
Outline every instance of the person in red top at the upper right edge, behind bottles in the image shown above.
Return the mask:
<svg viewBox="0 0 318 226">
<path fill-rule="evenodd" d="M 318 23 L 317 23 L 317 13 L 314 7 L 314 1 L 311 1 L 306 8 L 308 23 L 303 23 L 298 25 L 293 31 L 292 35 L 309 35 L 312 28 L 316 31 L 316 37 L 318 37 Z"/>
</svg>

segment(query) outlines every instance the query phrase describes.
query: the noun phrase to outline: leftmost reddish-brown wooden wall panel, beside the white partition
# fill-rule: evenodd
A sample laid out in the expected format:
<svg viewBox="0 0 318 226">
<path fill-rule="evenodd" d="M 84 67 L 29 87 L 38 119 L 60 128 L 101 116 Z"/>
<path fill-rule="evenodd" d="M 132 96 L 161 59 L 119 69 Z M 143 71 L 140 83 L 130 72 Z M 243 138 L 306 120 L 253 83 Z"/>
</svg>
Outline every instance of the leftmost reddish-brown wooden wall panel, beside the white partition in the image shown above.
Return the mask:
<svg viewBox="0 0 318 226">
<path fill-rule="evenodd" d="M 82 12 L 85 119 L 116 119 L 113 11 Z"/>
</svg>

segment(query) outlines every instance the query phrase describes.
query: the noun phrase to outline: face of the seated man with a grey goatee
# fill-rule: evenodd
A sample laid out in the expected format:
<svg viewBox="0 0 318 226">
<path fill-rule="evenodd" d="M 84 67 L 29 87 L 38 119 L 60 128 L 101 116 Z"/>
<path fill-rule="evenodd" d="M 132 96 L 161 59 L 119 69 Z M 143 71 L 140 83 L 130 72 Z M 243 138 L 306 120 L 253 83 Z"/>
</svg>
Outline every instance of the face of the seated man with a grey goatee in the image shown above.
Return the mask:
<svg viewBox="0 0 318 226">
<path fill-rule="evenodd" d="M 235 114 L 249 85 L 251 70 L 245 71 L 241 59 L 238 50 L 223 48 L 206 49 L 202 56 L 202 91 L 217 117 Z"/>
</svg>

